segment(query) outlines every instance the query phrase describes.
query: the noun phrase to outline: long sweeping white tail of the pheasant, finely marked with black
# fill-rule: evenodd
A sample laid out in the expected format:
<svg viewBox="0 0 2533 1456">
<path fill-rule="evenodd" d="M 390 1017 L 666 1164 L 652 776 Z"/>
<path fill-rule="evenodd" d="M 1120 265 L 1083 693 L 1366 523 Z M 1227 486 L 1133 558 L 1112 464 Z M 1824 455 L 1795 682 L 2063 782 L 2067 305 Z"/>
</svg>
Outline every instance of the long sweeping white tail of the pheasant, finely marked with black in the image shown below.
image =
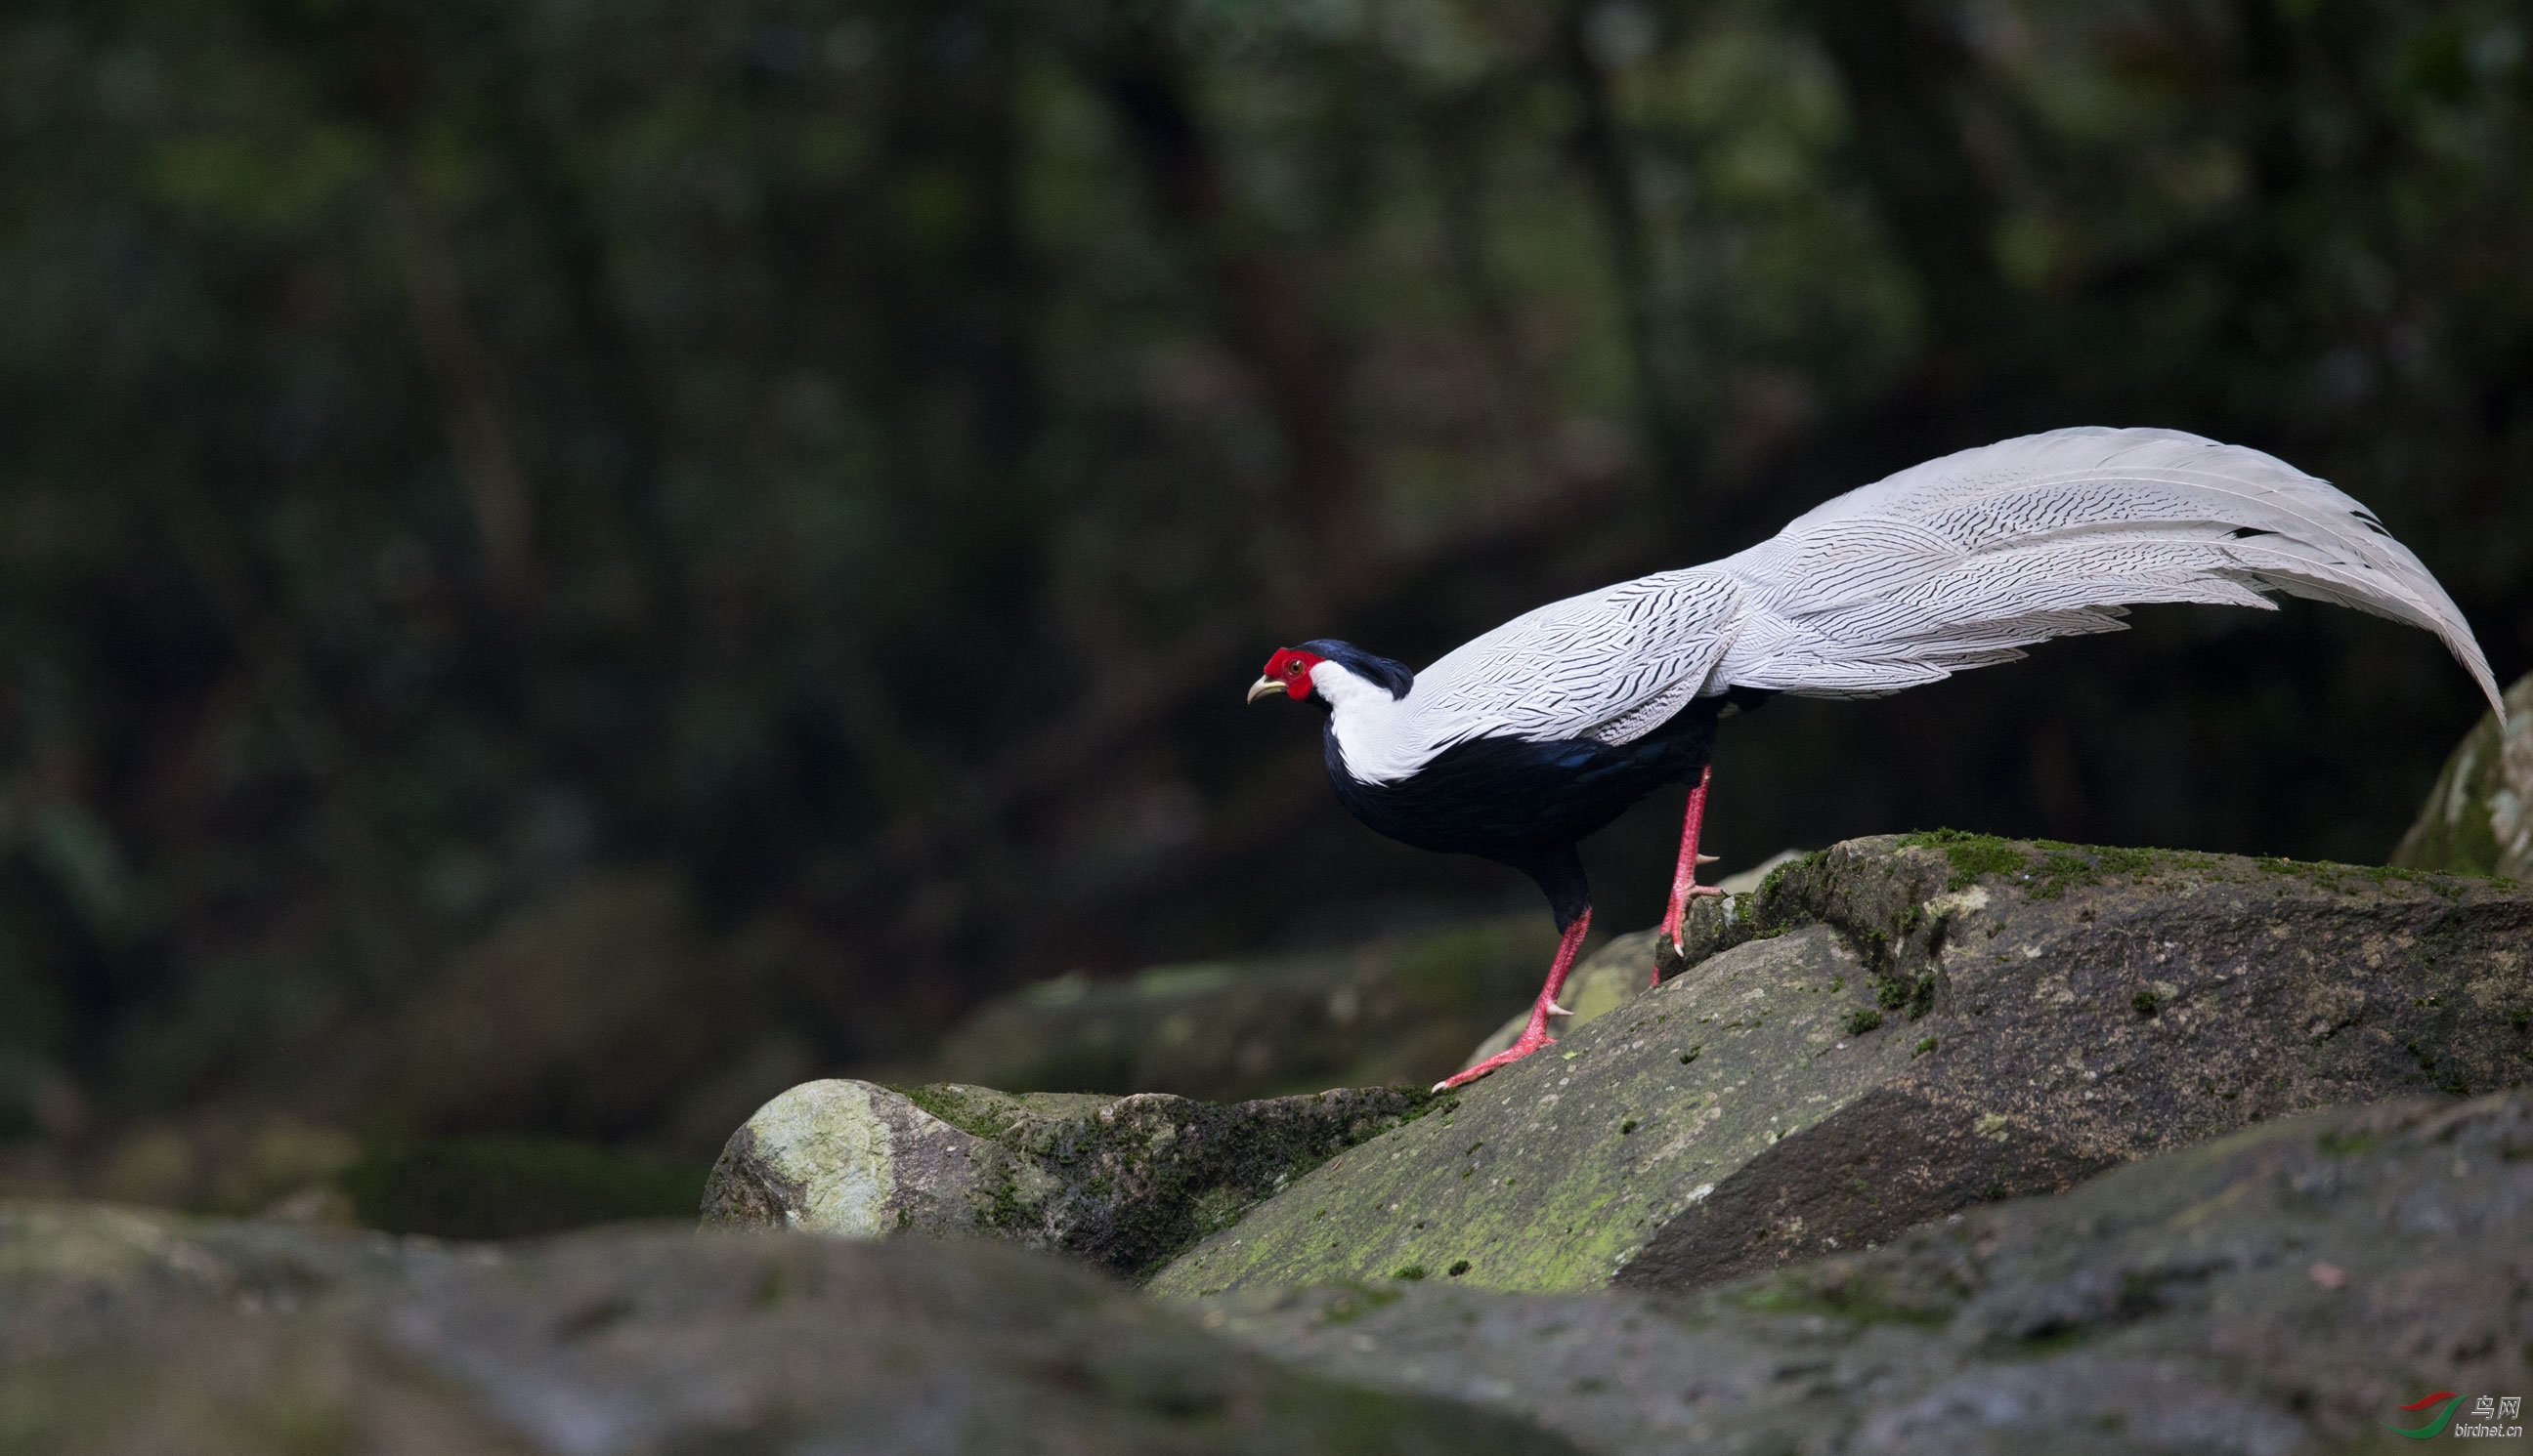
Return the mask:
<svg viewBox="0 0 2533 1456">
<path fill-rule="evenodd" d="M 1748 615 L 1710 691 L 1879 696 L 2120 631 L 2125 603 L 2290 593 L 2437 633 L 2498 701 L 2452 598 L 2366 506 L 2181 430 L 2075 428 L 1900 471 L 1715 562 Z"/>
</svg>

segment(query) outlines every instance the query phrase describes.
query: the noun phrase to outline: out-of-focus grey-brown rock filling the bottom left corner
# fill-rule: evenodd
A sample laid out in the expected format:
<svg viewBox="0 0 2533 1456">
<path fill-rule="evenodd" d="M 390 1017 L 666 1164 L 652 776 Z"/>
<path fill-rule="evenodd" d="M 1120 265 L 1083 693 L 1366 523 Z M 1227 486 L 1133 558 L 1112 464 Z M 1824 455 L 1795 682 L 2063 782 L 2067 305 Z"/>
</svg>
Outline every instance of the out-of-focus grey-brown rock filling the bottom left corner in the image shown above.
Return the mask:
<svg viewBox="0 0 2533 1456">
<path fill-rule="evenodd" d="M 985 1241 L 436 1246 L 0 1205 L 0 1446 L 48 1456 L 1570 1451 Z"/>
</svg>

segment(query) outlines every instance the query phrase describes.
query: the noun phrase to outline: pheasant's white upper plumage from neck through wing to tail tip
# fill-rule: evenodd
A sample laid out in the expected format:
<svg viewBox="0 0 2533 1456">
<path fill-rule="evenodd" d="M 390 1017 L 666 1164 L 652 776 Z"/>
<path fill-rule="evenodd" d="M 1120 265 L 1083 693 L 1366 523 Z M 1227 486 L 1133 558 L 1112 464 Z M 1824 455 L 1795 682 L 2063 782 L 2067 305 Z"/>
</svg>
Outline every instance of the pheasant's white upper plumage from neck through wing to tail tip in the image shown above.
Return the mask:
<svg viewBox="0 0 2533 1456">
<path fill-rule="evenodd" d="M 2452 598 L 2366 506 L 2244 446 L 2072 428 L 1900 471 L 1748 552 L 1550 603 L 1393 699 L 1312 681 L 1348 772 L 1413 775 L 1474 737 L 1629 742 L 1695 696 L 1879 696 L 2120 631 L 2125 605 L 2275 608 L 2290 593 L 2427 628 L 2505 719 Z"/>
</svg>

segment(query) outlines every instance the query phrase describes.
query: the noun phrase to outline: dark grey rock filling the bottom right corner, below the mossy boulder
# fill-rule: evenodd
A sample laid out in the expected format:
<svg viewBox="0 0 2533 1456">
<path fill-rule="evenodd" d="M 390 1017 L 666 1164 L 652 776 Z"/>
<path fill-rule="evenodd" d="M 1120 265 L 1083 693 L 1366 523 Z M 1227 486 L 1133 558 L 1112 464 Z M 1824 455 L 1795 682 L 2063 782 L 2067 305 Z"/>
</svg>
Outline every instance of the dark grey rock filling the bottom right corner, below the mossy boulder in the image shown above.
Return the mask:
<svg viewBox="0 0 2533 1456">
<path fill-rule="evenodd" d="M 1611 1456 L 2287 1456 L 2389 1448 L 2432 1390 L 2533 1393 L 2525 1309 L 2533 1096 L 2505 1094 L 2275 1122 L 1690 1299 L 1434 1271 L 1206 1324 Z"/>
</svg>

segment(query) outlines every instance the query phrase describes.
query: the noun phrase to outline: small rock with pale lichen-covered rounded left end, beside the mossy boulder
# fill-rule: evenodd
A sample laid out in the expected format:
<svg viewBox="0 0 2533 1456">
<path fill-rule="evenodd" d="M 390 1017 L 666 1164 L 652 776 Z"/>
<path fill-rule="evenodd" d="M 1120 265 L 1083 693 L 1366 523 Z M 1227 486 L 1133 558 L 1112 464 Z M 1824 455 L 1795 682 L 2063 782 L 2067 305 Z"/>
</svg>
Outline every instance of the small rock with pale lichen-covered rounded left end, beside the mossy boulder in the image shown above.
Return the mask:
<svg viewBox="0 0 2533 1456">
<path fill-rule="evenodd" d="M 1226 1107 L 808 1081 L 730 1137 L 704 1188 L 704 1226 L 988 1233 L 1140 1276 L 1429 1104 L 1378 1086 Z"/>
</svg>

